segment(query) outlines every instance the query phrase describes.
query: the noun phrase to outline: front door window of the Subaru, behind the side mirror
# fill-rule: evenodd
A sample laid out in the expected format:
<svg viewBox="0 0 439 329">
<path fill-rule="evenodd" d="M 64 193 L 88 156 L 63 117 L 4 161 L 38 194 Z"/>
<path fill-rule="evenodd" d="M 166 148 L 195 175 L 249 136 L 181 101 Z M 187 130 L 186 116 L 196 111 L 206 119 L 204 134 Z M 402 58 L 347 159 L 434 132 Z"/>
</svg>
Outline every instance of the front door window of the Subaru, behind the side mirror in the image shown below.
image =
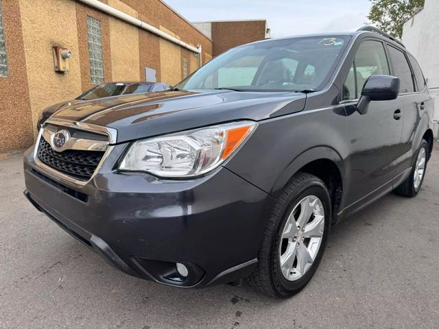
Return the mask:
<svg viewBox="0 0 439 329">
<path fill-rule="evenodd" d="M 377 74 L 389 74 L 383 43 L 374 40 L 364 41 L 359 46 L 354 64 L 346 77 L 344 99 L 358 99 L 370 75 Z"/>
</svg>

